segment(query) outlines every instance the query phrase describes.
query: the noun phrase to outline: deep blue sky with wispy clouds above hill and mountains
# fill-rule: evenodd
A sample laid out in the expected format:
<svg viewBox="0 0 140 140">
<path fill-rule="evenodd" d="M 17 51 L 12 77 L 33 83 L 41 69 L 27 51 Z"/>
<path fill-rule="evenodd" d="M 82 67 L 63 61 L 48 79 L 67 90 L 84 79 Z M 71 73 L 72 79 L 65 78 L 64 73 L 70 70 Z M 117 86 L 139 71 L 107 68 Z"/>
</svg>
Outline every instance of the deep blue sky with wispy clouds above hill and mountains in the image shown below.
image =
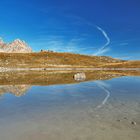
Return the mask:
<svg viewBox="0 0 140 140">
<path fill-rule="evenodd" d="M 140 59 L 139 0 L 1 0 L 0 37 L 49 49 Z"/>
</svg>

